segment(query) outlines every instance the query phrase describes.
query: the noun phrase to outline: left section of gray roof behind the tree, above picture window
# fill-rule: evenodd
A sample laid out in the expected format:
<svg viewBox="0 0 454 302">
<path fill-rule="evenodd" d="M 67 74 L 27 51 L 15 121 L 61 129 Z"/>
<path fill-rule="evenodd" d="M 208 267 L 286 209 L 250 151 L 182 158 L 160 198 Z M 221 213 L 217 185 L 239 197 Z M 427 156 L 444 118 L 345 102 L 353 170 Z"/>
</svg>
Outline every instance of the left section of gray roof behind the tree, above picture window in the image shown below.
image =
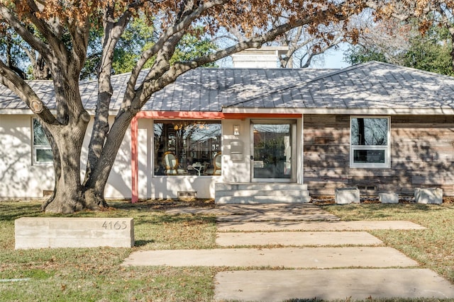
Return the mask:
<svg viewBox="0 0 454 302">
<path fill-rule="evenodd" d="M 193 69 L 155 93 L 143 110 L 221 111 L 225 105 L 297 85 L 329 71 L 332 69 Z M 141 77 L 145 74 L 143 71 Z M 112 76 L 111 110 L 120 108 L 129 75 Z M 28 83 L 45 105 L 55 108 L 52 81 Z M 82 103 L 87 110 L 95 108 L 97 87 L 97 81 L 80 83 Z M 7 109 L 27 109 L 27 106 L 15 93 L 0 85 L 0 110 Z"/>
</svg>

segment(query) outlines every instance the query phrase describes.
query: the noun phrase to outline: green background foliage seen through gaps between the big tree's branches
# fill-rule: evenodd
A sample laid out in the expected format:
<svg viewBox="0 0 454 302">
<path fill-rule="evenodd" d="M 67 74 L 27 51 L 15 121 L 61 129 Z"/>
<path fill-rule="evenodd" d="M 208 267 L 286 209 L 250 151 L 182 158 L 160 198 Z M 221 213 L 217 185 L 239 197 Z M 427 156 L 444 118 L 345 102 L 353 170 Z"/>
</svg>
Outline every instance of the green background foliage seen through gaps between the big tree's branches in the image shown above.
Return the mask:
<svg viewBox="0 0 454 302">
<path fill-rule="evenodd" d="M 92 30 L 90 30 L 87 58 L 80 74 L 81 80 L 96 78 L 97 68 L 101 60 L 102 34 L 103 30 L 101 26 L 93 26 Z M 171 59 L 171 63 L 188 61 L 216 50 L 216 45 L 208 38 L 201 37 L 201 34 L 201 29 L 199 29 L 195 30 L 195 33 L 192 35 L 184 35 L 182 41 L 177 45 L 177 50 Z M 118 45 L 114 51 L 114 74 L 131 71 L 143 50 L 153 46 L 157 39 L 155 35 L 153 25 L 149 25 L 144 16 L 134 18 L 123 33 L 121 40 L 118 41 Z M 63 35 L 63 39 L 67 44 L 70 43 L 69 35 Z M 21 76 L 27 79 L 33 79 L 33 69 L 38 68 L 38 66 L 31 64 L 31 59 L 28 58 L 25 51 L 28 48 L 26 42 L 12 30 L 7 35 L 0 35 L 0 57 L 9 58 L 11 66 Z M 29 52 L 29 54 L 33 53 Z M 154 59 L 150 59 L 145 64 L 145 68 L 152 66 L 153 62 Z M 215 67 L 216 64 L 211 63 L 207 64 L 207 66 Z"/>
</svg>

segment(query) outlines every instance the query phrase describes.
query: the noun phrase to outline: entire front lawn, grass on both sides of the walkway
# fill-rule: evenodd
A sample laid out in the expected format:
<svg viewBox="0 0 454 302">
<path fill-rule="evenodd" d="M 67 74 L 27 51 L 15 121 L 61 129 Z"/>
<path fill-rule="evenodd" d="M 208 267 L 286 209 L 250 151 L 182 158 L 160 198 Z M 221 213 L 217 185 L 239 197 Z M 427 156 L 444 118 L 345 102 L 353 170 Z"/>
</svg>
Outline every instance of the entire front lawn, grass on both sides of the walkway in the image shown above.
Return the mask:
<svg viewBox="0 0 454 302">
<path fill-rule="evenodd" d="M 0 202 L 0 301 L 212 301 L 214 275 L 227 267 L 122 267 L 135 250 L 216 248 L 215 217 L 169 215 L 163 209 L 190 204 L 110 202 L 107 211 L 67 216 L 132 217 L 134 248 L 14 250 L 14 220 L 55 216 L 38 202 Z M 199 204 L 204 205 L 204 204 Z M 454 283 L 454 207 L 421 204 L 327 205 L 345 220 L 406 220 L 423 231 L 373 231 Z M 296 300 L 297 301 L 297 300 Z M 302 301 L 302 300 L 301 300 Z M 437 300 L 368 300 L 437 301 Z"/>
</svg>

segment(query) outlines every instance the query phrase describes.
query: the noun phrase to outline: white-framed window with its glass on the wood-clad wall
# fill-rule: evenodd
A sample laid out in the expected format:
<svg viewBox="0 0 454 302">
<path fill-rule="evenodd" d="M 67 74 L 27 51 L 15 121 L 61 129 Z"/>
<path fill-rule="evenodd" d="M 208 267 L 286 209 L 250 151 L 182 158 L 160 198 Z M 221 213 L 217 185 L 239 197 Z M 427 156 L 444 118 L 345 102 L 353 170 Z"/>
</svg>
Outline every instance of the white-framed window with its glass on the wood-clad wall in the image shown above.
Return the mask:
<svg viewBox="0 0 454 302">
<path fill-rule="evenodd" d="M 389 166 L 389 117 L 351 117 L 350 167 Z"/>
</svg>

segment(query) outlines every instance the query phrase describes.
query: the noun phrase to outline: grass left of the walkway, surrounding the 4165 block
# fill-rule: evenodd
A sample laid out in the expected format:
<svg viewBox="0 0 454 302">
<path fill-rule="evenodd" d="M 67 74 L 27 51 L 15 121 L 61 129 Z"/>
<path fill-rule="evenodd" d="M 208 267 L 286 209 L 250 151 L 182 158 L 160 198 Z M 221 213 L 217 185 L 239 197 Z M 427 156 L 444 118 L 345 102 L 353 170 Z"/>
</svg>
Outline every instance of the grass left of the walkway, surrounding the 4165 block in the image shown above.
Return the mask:
<svg viewBox="0 0 454 302">
<path fill-rule="evenodd" d="M 55 216 L 37 202 L 0 202 L 0 301 L 211 301 L 214 270 L 121 267 L 135 250 L 215 246 L 214 216 L 167 215 L 143 202 L 66 216 L 133 217 L 134 248 L 14 250 L 14 220 Z"/>
</svg>

